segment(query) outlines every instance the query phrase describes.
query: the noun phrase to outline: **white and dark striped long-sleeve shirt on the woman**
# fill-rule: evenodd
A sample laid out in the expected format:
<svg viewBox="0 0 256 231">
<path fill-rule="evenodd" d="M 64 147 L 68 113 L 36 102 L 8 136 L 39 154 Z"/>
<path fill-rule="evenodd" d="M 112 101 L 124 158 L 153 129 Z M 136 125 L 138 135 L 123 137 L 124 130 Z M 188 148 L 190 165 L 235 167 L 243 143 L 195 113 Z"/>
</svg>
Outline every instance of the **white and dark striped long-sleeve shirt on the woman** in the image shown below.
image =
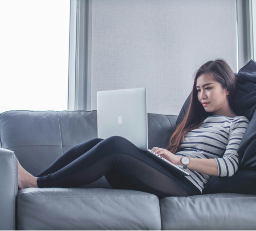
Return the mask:
<svg viewBox="0 0 256 231">
<path fill-rule="evenodd" d="M 239 156 L 237 150 L 248 125 L 249 120 L 244 116 L 207 117 L 200 128 L 185 134 L 186 141 L 182 138 L 176 155 L 190 158 L 215 158 L 218 176 L 232 176 L 238 171 Z M 224 151 L 223 158 L 220 158 Z M 177 166 L 183 168 L 183 166 Z M 185 171 L 190 174 L 190 176 L 185 177 L 194 183 L 202 193 L 205 184 L 212 176 L 189 170 L 189 165 Z"/>
</svg>

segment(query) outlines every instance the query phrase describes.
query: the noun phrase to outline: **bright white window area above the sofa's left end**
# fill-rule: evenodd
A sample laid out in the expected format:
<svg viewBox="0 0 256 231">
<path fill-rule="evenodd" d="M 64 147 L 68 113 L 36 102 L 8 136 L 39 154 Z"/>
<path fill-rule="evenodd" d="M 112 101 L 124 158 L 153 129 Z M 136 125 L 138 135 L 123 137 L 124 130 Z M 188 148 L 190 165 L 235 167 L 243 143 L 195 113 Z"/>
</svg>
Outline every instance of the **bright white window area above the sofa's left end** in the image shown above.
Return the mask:
<svg viewBox="0 0 256 231">
<path fill-rule="evenodd" d="M 70 0 L 0 0 L 0 113 L 68 110 Z"/>
</svg>

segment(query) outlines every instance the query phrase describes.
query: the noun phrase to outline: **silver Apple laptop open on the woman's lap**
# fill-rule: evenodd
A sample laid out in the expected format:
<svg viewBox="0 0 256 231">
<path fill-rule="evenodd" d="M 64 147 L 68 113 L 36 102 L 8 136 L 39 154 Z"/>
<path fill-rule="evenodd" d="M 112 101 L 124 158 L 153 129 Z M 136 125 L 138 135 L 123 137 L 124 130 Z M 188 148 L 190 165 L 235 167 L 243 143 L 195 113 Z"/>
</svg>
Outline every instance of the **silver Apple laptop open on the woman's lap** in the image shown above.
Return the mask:
<svg viewBox="0 0 256 231">
<path fill-rule="evenodd" d="M 98 138 L 121 136 L 172 173 L 189 176 L 182 168 L 148 149 L 146 88 L 97 92 Z"/>
</svg>

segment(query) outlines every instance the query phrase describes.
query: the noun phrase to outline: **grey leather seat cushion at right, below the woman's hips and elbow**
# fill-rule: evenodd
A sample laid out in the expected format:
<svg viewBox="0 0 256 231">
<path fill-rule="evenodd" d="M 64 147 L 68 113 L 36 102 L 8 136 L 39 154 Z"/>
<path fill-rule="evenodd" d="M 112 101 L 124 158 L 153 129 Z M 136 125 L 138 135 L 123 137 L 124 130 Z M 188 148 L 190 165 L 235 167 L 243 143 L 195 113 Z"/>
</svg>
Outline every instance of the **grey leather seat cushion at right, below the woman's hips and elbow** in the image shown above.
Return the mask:
<svg viewBox="0 0 256 231">
<path fill-rule="evenodd" d="M 220 193 L 160 200 L 162 230 L 255 230 L 256 196 Z"/>
</svg>

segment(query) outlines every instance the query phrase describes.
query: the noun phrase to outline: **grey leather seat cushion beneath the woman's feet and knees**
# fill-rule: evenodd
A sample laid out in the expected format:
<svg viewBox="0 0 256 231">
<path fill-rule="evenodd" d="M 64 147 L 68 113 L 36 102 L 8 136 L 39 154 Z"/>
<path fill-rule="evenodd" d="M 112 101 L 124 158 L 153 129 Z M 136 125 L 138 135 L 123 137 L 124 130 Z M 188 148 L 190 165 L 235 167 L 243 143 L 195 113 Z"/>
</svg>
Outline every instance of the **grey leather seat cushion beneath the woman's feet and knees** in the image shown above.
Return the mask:
<svg viewBox="0 0 256 231">
<path fill-rule="evenodd" d="M 157 196 L 133 190 L 18 191 L 18 230 L 161 230 Z"/>
</svg>

